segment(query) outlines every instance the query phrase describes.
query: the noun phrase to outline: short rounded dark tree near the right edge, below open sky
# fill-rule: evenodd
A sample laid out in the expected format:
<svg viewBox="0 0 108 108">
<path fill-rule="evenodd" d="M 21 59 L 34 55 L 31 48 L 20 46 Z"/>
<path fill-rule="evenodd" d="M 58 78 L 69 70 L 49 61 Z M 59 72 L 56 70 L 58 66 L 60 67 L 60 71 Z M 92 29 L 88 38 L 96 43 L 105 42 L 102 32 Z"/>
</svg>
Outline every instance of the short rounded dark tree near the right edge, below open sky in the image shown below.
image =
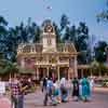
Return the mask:
<svg viewBox="0 0 108 108">
<path fill-rule="evenodd" d="M 106 53 L 105 53 L 106 46 L 107 46 L 107 43 L 105 41 L 99 41 L 97 43 L 97 46 L 94 48 L 95 58 L 98 63 L 106 62 Z"/>
</svg>

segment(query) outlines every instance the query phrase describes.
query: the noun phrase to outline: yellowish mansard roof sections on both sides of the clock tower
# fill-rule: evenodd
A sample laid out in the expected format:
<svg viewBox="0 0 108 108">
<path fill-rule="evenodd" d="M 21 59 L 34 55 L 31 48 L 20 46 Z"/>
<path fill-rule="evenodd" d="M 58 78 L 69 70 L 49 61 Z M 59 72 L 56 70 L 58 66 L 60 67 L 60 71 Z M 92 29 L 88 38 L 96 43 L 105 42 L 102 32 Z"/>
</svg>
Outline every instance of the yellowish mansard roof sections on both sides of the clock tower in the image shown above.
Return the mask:
<svg viewBox="0 0 108 108">
<path fill-rule="evenodd" d="M 77 54 L 77 50 L 73 43 L 58 43 L 56 45 L 56 50 L 57 52 L 68 52 L 68 53 Z M 17 54 L 19 53 L 42 53 L 42 51 L 43 51 L 42 43 L 25 43 L 25 44 L 18 45 Z"/>
</svg>

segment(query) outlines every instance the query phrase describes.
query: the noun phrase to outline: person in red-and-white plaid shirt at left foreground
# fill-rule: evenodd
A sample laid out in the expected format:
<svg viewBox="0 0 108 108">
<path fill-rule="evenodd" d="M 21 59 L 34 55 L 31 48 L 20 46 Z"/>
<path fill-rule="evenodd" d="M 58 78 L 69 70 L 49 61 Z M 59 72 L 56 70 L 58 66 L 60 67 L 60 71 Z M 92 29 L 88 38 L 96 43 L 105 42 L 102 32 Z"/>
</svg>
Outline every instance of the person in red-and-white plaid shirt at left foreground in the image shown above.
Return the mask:
<svg viewBox="0 0 108 108">
<path fill-rule="evenodd" d="M 22 85 L 19 76 L 15 75 L 10 82 L 12 108 L 24 108 L 24 91 L 26 90 L 26 86 Z"/>
</svg>

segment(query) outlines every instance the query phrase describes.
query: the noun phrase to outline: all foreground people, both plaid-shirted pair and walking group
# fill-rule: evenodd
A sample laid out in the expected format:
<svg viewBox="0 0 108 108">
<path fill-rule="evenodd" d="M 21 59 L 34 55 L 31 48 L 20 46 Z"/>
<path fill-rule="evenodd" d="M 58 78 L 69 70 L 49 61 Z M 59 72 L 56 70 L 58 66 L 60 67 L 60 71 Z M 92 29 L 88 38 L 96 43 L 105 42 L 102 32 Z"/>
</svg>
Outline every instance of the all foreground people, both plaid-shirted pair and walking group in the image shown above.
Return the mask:
<svg viewBox="0 0 108 108">
<path fill-rule="evenodd" d="M 11 108 L 24 108 L 24 96 L 27 90 L 35 87 L 35 81 L 31 78 L 23 78 L 22 76 L 14 76 L 11 78 L 9 86 L 11 94 Z M 82 79 L 72 78 L 60 80 L 52 78 L 43 78 L 41 81 L 41 90 L 44 95 L 43 105 L 49 103 L 57 105 L 67 103 L 69 100 L 87 102 L 91 97 L 91 89 L 93 86 L 92 80 L 83 77 Z M 4 93 L 4 92 L 3 92 Z"/>
</svg>

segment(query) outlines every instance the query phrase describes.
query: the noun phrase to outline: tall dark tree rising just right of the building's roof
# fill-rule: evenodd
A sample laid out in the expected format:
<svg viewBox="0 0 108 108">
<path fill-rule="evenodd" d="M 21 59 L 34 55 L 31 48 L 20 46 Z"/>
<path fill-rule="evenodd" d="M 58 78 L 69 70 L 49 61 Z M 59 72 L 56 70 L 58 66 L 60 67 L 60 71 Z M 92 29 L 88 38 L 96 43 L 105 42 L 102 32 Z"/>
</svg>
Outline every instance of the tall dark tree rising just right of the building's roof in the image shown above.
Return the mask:
<svg viewBox="0 0 108 108">
<path fill-rule="evenodd" d="M 85 25 L 85 23 L 80 23 L 79 27 L 77 29 L 77 41 L 76 41 L 76 48 L 78 52 L 81 52 L 78 55 L 78 62 L 79 64 L 86 64 L 87 60 L 87 40 L 89 40 L 89 28 Z"/>
</svg>

